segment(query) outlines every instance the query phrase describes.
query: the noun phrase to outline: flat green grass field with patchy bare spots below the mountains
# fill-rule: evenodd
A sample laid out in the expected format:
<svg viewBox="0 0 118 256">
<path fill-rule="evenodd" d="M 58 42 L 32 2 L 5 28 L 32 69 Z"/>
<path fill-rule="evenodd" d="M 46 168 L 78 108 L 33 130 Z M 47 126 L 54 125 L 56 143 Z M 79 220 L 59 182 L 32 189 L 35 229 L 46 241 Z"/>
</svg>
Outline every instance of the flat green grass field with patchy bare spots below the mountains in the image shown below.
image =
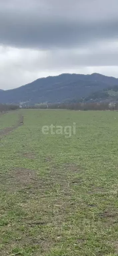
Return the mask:
<svg viewBox="0 0 118 256">
<path fill-rule="evenodd" d="M 43 125 L 73 122 L 71 137 L 42 134 Z M 21 109 L 0 115 L 7 127 L 0 255 L 118 255 L 118 112 Z"/>
</svg>

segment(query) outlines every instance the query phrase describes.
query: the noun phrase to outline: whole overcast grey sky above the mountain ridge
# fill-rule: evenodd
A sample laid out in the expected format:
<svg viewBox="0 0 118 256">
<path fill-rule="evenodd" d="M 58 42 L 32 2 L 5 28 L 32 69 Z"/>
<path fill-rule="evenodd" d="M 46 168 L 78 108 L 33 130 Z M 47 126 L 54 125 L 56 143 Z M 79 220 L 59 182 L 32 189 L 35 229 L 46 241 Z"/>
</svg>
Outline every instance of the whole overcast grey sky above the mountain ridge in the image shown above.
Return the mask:
<svg viewBox="0 0 118 256">
<path fill-rule="evenodd" d="M 118 0 L 0 0 L 0 88 L 65 72 L 118 77 Z"/>
</svg>

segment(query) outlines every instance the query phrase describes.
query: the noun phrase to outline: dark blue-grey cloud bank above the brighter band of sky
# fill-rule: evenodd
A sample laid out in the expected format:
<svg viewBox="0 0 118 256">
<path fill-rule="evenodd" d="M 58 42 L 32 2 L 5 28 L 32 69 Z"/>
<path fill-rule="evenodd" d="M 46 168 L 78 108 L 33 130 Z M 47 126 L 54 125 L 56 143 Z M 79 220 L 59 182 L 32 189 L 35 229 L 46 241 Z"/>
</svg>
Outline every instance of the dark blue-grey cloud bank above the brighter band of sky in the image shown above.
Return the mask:
<svg viewBox="0 0 118 256">
<path fill-rule="evenodd" d="M 0 7 L 0 44 L 72 48 L 118 38 L 116 0 L 10 0 Z"/>
</svg>

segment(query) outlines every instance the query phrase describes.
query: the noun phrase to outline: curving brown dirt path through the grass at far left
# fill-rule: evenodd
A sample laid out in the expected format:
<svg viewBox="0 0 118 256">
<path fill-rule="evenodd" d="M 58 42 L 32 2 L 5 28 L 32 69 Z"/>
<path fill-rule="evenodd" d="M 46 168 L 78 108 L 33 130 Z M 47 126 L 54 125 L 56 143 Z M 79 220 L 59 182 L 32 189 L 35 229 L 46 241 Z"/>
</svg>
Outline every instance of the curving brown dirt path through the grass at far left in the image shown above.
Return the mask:
<svg viewBox="0 0 118 256">
<path fill-rule="evenodd" d="M 11 133 L 12 131 L 14 131 L 15 129 L 17 129 L 17 127 L 23 125 L 23 115 L 19 114 L 19 119 L 16 122 L 16 124 L 14 124 L 14 126 L 12 127 L 6 127 L 3 130 L 0 130 L 0 137 L 7 135 L 9 133 Z"/>
</svg>

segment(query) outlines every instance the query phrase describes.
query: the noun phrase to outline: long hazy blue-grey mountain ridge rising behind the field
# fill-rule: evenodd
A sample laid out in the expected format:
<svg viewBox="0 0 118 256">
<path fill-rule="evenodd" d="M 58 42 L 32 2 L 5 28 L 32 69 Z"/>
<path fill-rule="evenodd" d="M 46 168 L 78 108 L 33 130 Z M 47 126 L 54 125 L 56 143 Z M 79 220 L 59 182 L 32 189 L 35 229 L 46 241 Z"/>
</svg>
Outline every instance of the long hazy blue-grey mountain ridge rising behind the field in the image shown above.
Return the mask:
<svg viewBox="0 0 118 256">
<path fill-rule="evenodd" d="M 20 102 L 28 102 L 32 105 L 78 100 L 114 85 L 118 85 L 118 78 L 98 73 L 91 75 L 65 73 L 39 78 L 15 89 L 0 90 L 0 103 L 20 104 Z"/>
</svg>

